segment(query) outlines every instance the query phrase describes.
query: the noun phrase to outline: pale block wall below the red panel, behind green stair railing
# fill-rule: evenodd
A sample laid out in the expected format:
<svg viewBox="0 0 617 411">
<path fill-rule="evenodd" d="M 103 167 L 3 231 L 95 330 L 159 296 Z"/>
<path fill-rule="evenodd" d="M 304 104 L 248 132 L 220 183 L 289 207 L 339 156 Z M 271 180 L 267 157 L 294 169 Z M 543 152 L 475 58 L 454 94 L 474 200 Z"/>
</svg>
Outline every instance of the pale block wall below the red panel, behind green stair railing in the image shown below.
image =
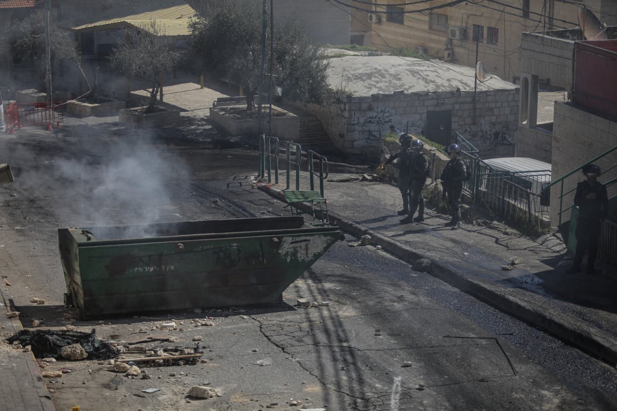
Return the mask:
<svg viewBox="0 0 617 411">
<path fill-rule="evenodd" d="M 617 122 L 598 117 L 569 103 L 555 102 L 555 123 L 552 144 L 552 175 L 553 179 L 569 173 L 576 167 L 597 157 L 603 152 L 615 147 L 617 142 Z M 597 165 L 607 170 L 617 164 L 617 151 L 598 160 Z M 606 181 L 615 178 L 617 172 L 612 170 L 598 180 Z M 584 178 L 581 172 L 574 173 L 565 179 L 563 192 L 576 188 L 576 183 Z M 558 222 L 560 185 L 551 189 L 550 219 Z M 608 196 L 617 194 L 617 185 L 608 188 Z M 563 208 L 572 204 L 574 192 L 563 200 Z M 561 220 L 569 220 L 568 215 L 562 215 Z M 557 225 L 557 223 L 555 223 Z"/>
</svg>

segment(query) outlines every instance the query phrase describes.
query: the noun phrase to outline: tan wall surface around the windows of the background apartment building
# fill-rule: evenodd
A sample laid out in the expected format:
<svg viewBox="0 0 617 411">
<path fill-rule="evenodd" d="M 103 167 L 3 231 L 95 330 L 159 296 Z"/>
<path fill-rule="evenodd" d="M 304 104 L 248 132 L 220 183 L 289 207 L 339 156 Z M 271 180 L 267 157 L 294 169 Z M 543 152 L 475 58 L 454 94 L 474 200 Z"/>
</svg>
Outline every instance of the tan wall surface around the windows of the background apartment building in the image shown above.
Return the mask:
<svg viewBox="0 0 617 411">
<path fill-rule="evenodd" d="M 430 6 L 439 6 L 448 0 L 433 1 Z M 389 1 L 392 5 L 404 3 L 402 0 Z M 383 2 L 381 2 L 383 4 Z M 443 15 L 440 19 L 447 19 L 447 28 L 441 30 L 429 24 L 429 15 L 418 12 L 404 15 L 402 24 L 387 21 L 384 7 L 356 4 L 360 9 L 371 12 L 382 12 L 381 23 L 368 23 L 368 11 L 352 9 L 352 15 L 360 22 L 366 22 L 365 42 L 383 51 L 391 48 L 407 46 L 426 48 L 428 54 L 434 58 L 449 60 L 457 64 L 473 67 L 476 64 L 476 43 L 473 41 L 473 25 L 481 25 L 483 39 L 478 43 L 478 60 L 483 62 L 489 73 L 493 73 L 504 80 L 518 83 L 521 60 L 521 33 L 525 31 L 552 30 L 571 28 L 578 24 L 576 13 L 579 6 L 559 2 L 553 9 L 553 20 L 547 17 L 544 25 L 543 3 L 530 2 L 529 18 L 523 17 L 521 9 L 523 2 L 516 1 L 513 7 L 484 7 L 486 4 L 464 2 L 452 7 L 436 9 L 433 14 Z M 377 9 L 375 8 L 377 7 Z M 421 9 L 420 5 L 401 5 L 406 11 Z M 518 9 L 517 9 L 518 7 Z M 435 17 L 434 17 L 435 18 Z M 444 20 L 445 21 L 445 20 Z M 550 25 L 552 21 L 553 25 Z M 449 28 L 463 33 L 462 38 L 451 38 Z M 487 28 L 497 28 L 497 41 L 489 42 Z M 460 30 L 459 30 L 460 29 Z M 361 28 L 357 28 L 361 30 Z M 375 30 L 378 35 L 368 35 Z"/>
</svg>

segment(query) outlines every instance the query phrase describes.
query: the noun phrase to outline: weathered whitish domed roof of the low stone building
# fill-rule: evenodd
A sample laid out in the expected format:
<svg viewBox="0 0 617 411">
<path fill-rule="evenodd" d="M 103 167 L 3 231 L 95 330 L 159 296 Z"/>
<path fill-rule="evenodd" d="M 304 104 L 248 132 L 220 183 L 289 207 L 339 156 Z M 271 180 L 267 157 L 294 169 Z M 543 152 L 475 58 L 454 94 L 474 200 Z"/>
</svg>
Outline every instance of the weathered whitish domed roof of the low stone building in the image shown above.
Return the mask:
<svg viewBox="0 0 617 411">
<path fill-rule="evenodd" d="M 444 93 L 473 91 L 476 70 L 441 60 L 421 60 L 397 56 L 346 56 L 328 60 L 331 88 L 354 96 L 370 96 L 394 91 Z M 478 81 L 478 91 L 515 89 L 517 85 L 488 74 Z"/>
</svg>

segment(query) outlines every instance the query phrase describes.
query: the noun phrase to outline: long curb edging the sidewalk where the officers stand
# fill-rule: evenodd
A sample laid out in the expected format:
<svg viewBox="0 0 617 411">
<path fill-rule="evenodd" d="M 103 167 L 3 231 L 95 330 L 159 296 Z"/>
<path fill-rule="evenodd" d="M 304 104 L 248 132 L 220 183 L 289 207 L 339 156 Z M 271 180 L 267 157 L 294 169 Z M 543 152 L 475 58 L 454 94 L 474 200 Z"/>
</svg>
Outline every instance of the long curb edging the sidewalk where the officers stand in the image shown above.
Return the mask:
<svg viewBox="0 0 617 411">
<path fill-rule="evenodd" d="M 281 194 L 280 189 L 260 183 L 255 183 L 255 185 L 258 189 L 265 191 L 265 193 L 284 201 L 284 196 Z M 309 208 L 307 206 L 307 209 Z M 595 355 L 595 357 L 602 359 L 611 366 L 617 364 L 617 346 L 611 341 L 610 336 L 606 336 L 602 330 L 591 328 L 589 324 L 582 327 L 573 318 L 564 317 L 562 312 L 550 306 L 541 303 L 533 304 L 538 299 L 536 294 L 518 289 L 518 293 L 527 294 L 524 296 L 525 298 L 509 295 L 507 290 L 504 291 L 503 288 L 496 287 L 488 281 L 473 280 L 461 273 L 461 268 L 465 268 L 466 272 L 476 272 L 481 275 L 484 273 L 488 274 L 488 270 L 460 260 L 443 259 L 436 262 L 421 251 L 399 243 L 399 241 L 370 230 L 358 223 L 346 220 L 330 210 L 328 210 L 328 217 L 332 224 L 339 226 L 342 231 L 356 238 L 370 235 L 371 244 L 381 246 L 384 251 L 389 252 L 407 264 L 413 265 L 416 260 L 422 258 L 431 260 L 430 275 L 463 291 L 463 293 L 496 307 L 502 312 L 547 331 L 582 351 Z M 457 266 L 459 268 L 455 268 Z"/>
</svg>

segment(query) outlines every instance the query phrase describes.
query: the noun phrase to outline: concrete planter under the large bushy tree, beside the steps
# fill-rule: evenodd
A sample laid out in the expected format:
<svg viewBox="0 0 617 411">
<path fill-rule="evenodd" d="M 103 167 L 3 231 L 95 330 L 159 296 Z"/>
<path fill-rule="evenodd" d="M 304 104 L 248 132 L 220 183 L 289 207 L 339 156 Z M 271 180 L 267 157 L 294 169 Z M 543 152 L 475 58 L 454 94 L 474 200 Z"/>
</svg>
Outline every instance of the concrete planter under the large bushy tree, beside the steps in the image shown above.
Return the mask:
<svg viewBox="0 0 617 411">
<path fill-rule="evenodd" d="M 299 117 L 272 106 L 271 135 L 289 140 L 299 138 Z M 276 114 L 274 114 L 276 112 Z M 210 120 L 234 136 L 258 135 L 257 114 L 247 113 L 244 107 L 210 107 Z M 268 130 L 268 111 L 263 112 L 262 130 Z"/>
</svg>

